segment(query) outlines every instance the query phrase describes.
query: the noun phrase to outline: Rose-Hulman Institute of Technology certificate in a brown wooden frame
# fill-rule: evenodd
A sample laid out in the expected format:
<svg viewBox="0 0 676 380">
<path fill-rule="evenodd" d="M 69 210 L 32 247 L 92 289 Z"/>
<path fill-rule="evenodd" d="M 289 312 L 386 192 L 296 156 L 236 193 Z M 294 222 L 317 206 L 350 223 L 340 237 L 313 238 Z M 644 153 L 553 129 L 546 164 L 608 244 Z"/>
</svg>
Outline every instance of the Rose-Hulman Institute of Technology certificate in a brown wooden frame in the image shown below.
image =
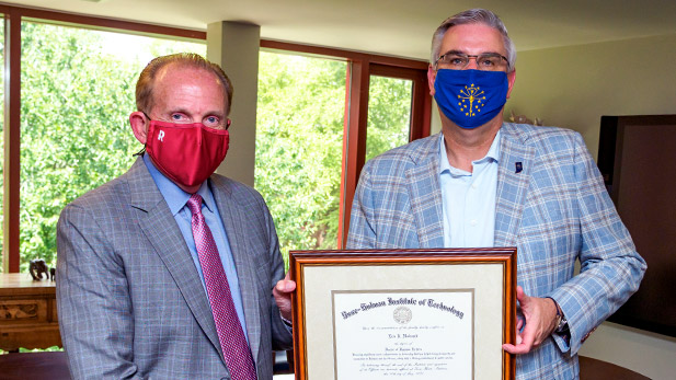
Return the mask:
<svg viewBox="0 0 676 380">
<path fill-rule="evenodd" d="M 514 379 L 515 247 L 289 257 L 296 379 Z"/>
</svg>

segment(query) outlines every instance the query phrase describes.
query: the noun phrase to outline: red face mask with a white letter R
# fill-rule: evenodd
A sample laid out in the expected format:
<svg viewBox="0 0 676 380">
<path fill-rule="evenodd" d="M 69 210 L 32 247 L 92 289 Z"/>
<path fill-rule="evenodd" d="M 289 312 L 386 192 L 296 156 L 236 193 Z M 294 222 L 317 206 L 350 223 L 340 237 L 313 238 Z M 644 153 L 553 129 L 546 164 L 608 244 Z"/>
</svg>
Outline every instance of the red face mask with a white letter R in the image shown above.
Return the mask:
<svg viewBox="0 0 676 380">
<path fill-rule="evenodd" d="M 226 129 L 209 128 L 202 123 L 150 120 L 146 151 L 170 180 L 192 187 L 214 174 L 226 158 L 229 142 Z"/>
</svg>

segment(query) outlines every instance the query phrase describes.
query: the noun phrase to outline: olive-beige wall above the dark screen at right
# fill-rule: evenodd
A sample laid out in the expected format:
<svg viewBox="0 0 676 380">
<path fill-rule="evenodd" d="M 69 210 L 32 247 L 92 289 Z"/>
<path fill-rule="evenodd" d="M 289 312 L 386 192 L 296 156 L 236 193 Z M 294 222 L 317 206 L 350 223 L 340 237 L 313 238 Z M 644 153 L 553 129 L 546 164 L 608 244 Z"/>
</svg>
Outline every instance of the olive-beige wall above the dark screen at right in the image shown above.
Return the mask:
<svg viewBox="0 0 676 380">
<path fill-rule="evenodd" d="M 596 157 L 601 115 L 676 114 L 675 59 L 676 34 L 519 51 L 505 118 L 575 129 Z"/>
</svg>

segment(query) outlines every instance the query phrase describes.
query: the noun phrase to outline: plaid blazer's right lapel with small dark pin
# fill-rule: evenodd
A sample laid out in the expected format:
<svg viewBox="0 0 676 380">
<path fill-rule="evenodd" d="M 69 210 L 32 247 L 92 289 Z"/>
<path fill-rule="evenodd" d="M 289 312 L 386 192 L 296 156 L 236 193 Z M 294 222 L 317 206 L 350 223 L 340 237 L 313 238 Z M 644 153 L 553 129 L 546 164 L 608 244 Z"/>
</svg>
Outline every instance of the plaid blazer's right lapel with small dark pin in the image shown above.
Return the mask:
<svg viewBox="0 0 676 380">
<path fill-rule="evenodd" d="M 501 129 L 497 193 L 495 197 L 495 246 L 515 246 L 532 172 L 535 148 L 527 146 L 511 124 Z"/>
</svg>

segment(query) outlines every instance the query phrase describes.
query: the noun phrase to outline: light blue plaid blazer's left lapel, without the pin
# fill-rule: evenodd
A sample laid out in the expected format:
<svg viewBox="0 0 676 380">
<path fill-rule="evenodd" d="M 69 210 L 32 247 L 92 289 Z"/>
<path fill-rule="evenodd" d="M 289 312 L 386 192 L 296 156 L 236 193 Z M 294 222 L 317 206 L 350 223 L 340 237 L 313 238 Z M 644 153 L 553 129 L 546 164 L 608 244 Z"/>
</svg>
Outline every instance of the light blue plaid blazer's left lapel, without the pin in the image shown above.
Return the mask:
<svg viewBox="0 0 676 380">
<path fill-rule="evenodd" d="M 413 168 L 405 172 L 411 210 L 415 218 L 421 247 L 444 246 L 439 138 L 439 135 L 427 138 L 417 150 L 420 154 L 411 157 Z"/>
</svg>

